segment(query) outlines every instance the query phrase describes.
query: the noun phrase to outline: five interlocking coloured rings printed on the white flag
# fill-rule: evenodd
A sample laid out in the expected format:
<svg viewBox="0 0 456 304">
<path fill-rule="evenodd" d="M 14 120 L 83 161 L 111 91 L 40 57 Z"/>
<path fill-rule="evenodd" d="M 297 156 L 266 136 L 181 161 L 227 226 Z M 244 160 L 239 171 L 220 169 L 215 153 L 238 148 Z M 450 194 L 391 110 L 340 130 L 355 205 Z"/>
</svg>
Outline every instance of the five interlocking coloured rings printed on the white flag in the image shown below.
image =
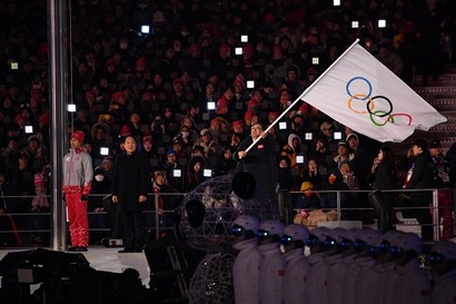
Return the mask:
<svg viewBox="0 0 456 304">
<path fill-rule="evenodd" d="M 364 82 L 367 85 L 367 87 L 368 87 L 368 94 L 351 94 L 351 91 L 350 91 L 350 86 L 353 85 L 354 81 L 364 81 Z M 406 121 L 407 126 L 410 126 L 410 125 L 412 125 L 413 118 L 412 118 L 412 116 L 410 116 L 409 114 L 404 114 L 404 112 L 393 114 L 393 102 L 391 102 L 391 100 L 390 100 L 388 97 L 381 96 L 381 95 L 371 97 L 371 95 L 373 95 L 373 86 L 371 86 L 370 81 L 369 81 L 367 78 L 360 77 L 360 76 L 354 77 L 354 78 L 351 78 L 350 80 L 348 80 L 348 82 L 347 82 L 345 89 L 346 89 L 346 91 L 347 91 L 347 95 L 350 97 L 350 98 L 348 99 L 348 102 L 347 102 L 348 108 L 349 108 L 351 111 L 356 112 L 356 114 L 368 114 L 368 115 L 369 115 L 369 118 L 370 118 L 370 121 L 371 121 L 375 126 L 383 127 L 383 126 L 385 126 L 385 125 L 388 124 L 388 122 L 395 124 L 395 117 L 405 117 L 406 120 L 407 120 L 407 121 Z M 388 110 L 383 110 L 383 109 L 375 110 L 374 100 L 376 100 L 376 99 L 377 99 L 377 101 L 379 101 L 379 100 L 385 100 L 386 104 L 388 105 L 389 109 L 388 109 Z M 354 101 L 354 100 L 366 101 L 366 110 L 357 110 L 357 109 L 355 109 L 355 108 L 353 107 L 353 101 Z M 377 104 L 377 106 L 378 106 L 378 105 L 383 105 L 383 104 L 385 104 L 385 102 L 376 102 L 376 104 Z M 381 121 L 377 121 L 376 118 L 383 118 L 383 119 L 381 119 Z"/>
</svg>

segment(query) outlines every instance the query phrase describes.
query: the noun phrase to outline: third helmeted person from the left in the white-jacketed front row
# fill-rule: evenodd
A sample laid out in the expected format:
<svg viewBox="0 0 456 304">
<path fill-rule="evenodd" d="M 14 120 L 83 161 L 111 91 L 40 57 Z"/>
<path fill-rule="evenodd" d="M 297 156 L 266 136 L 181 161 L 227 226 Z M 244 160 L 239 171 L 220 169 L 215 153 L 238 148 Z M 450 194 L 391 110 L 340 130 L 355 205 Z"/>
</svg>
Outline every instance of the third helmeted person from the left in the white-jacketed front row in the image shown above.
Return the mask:
<svg viewBox="0 0 456 304">
<path fill-rule="evenodd" d="M 300 304 L 305 298 L 304 286 L 307 281 L 309 262 L 304 255 L 309 231 L 303 225 L 290 224 L 281 236 L 284 259 L 287 263 L 284 276 L 284 303 Z"/>
</svg>

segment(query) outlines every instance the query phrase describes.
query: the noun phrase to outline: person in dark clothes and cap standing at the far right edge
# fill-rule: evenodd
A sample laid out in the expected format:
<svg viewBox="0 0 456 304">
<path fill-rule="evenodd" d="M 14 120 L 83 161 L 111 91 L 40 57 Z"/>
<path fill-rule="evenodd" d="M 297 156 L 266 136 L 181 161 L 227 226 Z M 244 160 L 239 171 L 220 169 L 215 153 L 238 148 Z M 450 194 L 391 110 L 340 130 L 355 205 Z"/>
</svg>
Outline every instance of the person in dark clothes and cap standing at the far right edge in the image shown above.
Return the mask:
<svg viewBox="0 0 456 304">
<path fill-rule="evenodd" d="M 449 239 L 454 236 L 453 185 L 455 185 L 455 180 L 452 180 L 454 179 L 454 174 L 452 174 L 452 164 L 443 154 L 440 140 L 434 139 L 430 141 L 429 153 L 436 169 L 438 170 L 436 187 L 438 188 L 438 205 L 439 207 L 443 207 L 440 209 L 444 226 L 442 236 L 444 239 Z"/>
</svg>

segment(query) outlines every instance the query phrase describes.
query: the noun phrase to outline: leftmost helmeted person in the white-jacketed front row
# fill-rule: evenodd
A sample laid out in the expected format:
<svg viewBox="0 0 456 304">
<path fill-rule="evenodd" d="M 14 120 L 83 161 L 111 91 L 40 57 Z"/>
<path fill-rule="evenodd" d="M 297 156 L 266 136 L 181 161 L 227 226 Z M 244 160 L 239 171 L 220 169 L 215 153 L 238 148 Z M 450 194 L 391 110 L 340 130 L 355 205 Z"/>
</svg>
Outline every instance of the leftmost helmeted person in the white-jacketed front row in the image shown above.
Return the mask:
<svg viewBox="0 0 456 304">
<path fill-rule="evenodd" d="M 232 223 L 232 247 L 239 251 L 232 266 L 236 304 L 259 304 L 259 266 L 262 254 L 257 246 L 259 218 L 240 215 Z"/>
</svg>

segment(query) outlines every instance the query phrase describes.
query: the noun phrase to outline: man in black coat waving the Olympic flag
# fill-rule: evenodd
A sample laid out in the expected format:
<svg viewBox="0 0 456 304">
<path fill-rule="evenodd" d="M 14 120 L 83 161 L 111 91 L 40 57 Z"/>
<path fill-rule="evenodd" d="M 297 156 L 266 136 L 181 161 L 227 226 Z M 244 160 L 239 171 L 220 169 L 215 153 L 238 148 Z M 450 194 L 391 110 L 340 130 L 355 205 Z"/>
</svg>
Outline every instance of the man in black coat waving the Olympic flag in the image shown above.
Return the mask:
<svg viewBox="0 0 456 304">
<path fill-rule="evenodd" d="M 258 137 L 261 139 L 249 151 L 246 151 Z M 257 187 L 266 193 L 274 204 L 277 202 L 278 179 L 278 166 L 274 155 L 275 147 L 276 137 L 265 133 L 262 126 L 257 122 L 251 126 L 250 136 L 245 138 L 232 154 L 232 158 L 238 161 L 237 173 L 250 173 L 255 177 Z"/>
</svg>

